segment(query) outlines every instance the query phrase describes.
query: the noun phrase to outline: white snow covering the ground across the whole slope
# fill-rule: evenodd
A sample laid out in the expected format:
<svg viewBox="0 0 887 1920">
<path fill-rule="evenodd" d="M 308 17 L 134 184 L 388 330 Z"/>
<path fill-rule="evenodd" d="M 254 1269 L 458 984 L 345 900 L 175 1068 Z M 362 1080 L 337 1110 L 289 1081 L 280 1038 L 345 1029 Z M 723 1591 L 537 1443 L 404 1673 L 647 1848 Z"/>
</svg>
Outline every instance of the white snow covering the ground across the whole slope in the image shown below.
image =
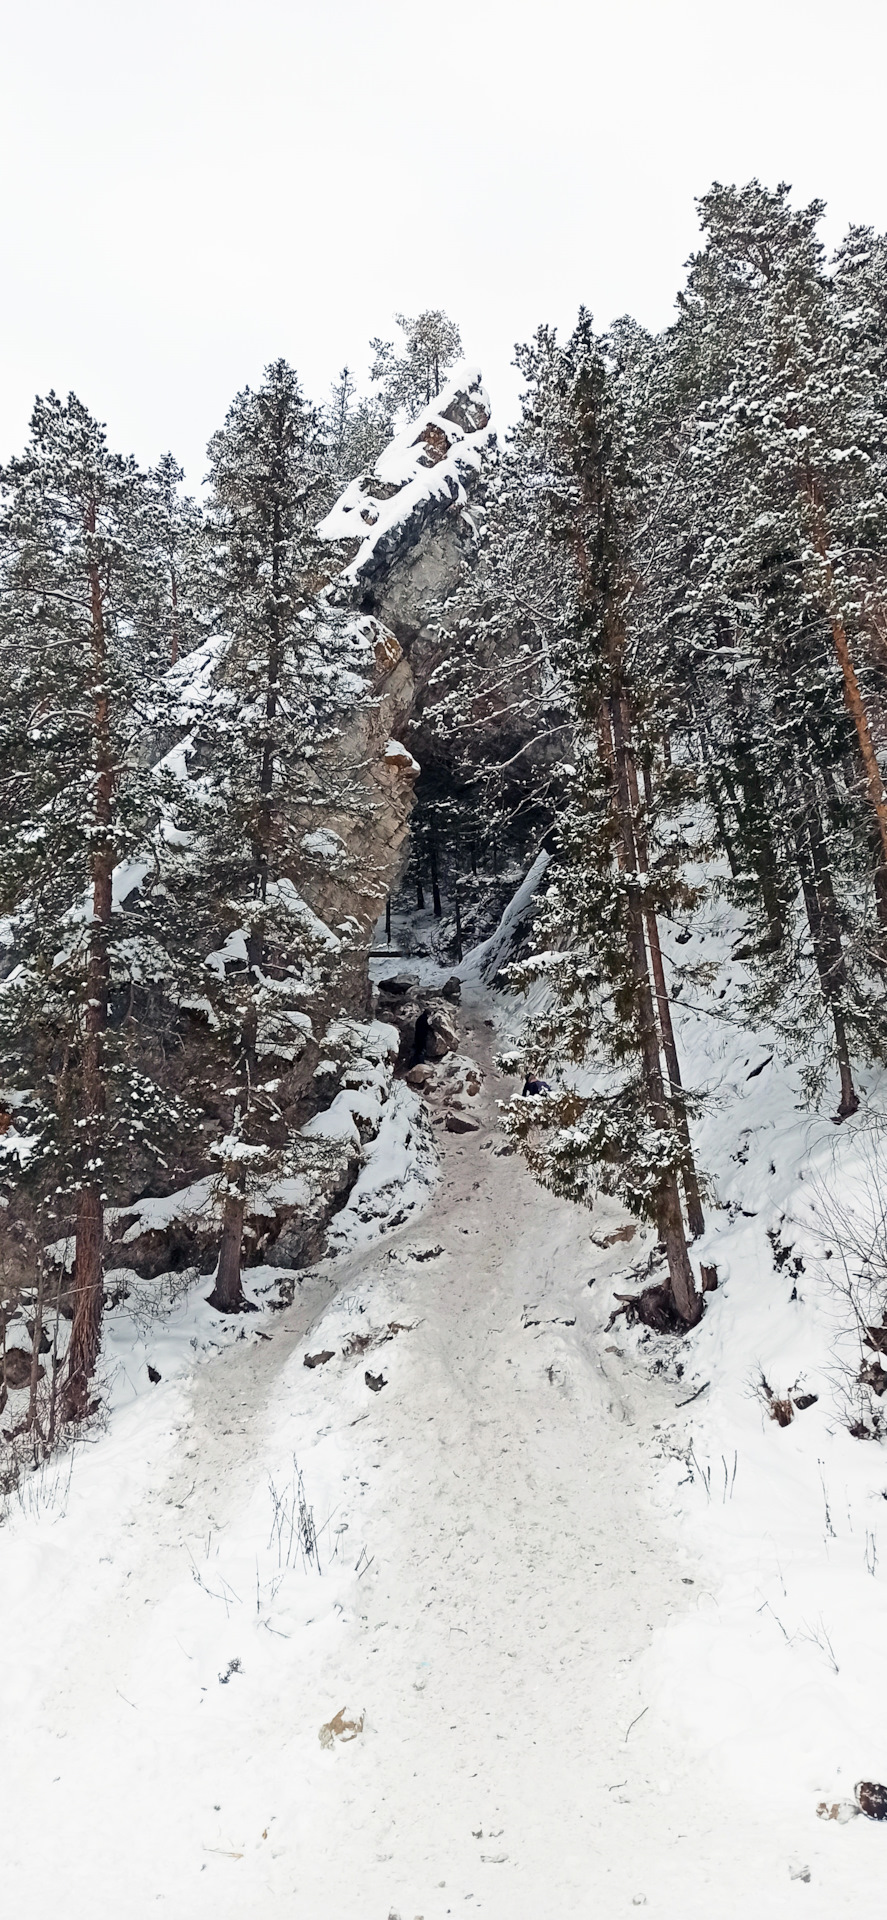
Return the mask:
<svg viewBox="0 0 887 1920">
<path fill-rule="evenodd" d="M 678 1025 L 687 1083 L 718 1092 L 693 1258 L 720 1286 L 683 1342 L 609 1329 L 651 1236 L 538 1188 L 497 1133 L 518 1010 L 484 981 L 513 906 L 461 970 L 482 1092 L 442 1069 L 428 1104 L 382 1098 L 394 1031 L 336 1021 L 332 1110 L 378 1131 L 330 1258 L 286 1277 L 290 1306 L 250 1269 L 246 1321 L 179 1277 L 157 1317 L 131 1277 L 106 1430 L 12 1500 L 12 1910 L 58 1884 L 71 1920 L 98 1885 L 134 1920 L 879 1907 L 879 1828 L 816 1807 L 887 1774 L 887 1467 L 847 1430 L 826 1258 L 877 1179 L 881 1079 L 845 1127 L 810 1114 L 774 1035 L 718 1018 L 737 970 L 712 906 L 714 979 Z M 445 1133 L 453 1098 L 476 1133 Z M 818 1400 L 779 1427 L 762 1373 Z"/>
</svg>

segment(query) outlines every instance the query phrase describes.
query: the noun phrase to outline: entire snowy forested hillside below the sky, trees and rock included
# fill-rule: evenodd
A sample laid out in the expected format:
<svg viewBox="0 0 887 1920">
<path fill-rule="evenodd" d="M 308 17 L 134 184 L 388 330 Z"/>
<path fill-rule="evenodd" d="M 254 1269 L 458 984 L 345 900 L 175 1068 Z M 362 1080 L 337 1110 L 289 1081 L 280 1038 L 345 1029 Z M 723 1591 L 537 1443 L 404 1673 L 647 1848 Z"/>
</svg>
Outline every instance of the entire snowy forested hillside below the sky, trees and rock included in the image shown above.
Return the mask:
<svg viewBox="0 0 887 1920">
<path fill-rule="evenodd" d="M 875 1910 L 887 238 L 697 209 L 0 470 L 15 1912 Z"/>
</svg>

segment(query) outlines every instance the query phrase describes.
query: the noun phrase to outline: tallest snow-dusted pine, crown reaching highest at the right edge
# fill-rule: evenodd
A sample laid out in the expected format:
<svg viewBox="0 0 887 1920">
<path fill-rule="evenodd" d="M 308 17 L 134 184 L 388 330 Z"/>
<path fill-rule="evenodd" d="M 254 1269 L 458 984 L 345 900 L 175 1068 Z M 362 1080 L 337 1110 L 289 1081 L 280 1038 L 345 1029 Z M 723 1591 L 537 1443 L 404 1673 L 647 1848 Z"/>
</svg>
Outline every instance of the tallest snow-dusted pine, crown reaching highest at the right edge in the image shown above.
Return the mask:
<svg viewBox="0 0 887 1920">
<path fill-rule="evenodd" d="M 804 1031 L 804 968 L 793 970 L 789 945 L 801 891 L 843 1117 L 858 1104 L 851 1033 L 866 1050 L 887 1039 L 872 993 L 877 943 L 856 904 L 858 849 L 870 841 L 883 914 L 874 689 L 851 649 L 852 634 L 872 662 L 864 580 L 883 530 L 877 396 L 824 273 L 822 204 L 795 213 L 785 186 L 751 182 L 712 188 L 701 211 L 707 246 L 672 338 L 693 424 L 672 503 L 683 522 L 672 637 L 731 866 L 756 874 L 758 962 L 770 954 L 758 972 L 772 1010 L 795 972 L 789 1025 Z M 774 789 L 776 814 L 762 803 Z"/>
</svg>

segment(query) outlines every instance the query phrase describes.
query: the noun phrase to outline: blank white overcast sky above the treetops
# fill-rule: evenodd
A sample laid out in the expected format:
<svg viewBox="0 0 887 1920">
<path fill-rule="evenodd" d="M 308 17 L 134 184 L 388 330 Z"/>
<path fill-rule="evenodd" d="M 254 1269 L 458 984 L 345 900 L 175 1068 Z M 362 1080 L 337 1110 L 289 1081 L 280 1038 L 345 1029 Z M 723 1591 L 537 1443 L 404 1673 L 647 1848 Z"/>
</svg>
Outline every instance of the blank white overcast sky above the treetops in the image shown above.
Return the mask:
<svg viewBox="0 0 887 1920">
<path fill-rule="evenodd" d="M 442 305 L 513 342 L 670 317 L 712 179 L 887 227 L 885 0 L 6 0 L 0 457 L 35 392 L 196 486 L 284 353 L 321 397 Z"/>
</svg>

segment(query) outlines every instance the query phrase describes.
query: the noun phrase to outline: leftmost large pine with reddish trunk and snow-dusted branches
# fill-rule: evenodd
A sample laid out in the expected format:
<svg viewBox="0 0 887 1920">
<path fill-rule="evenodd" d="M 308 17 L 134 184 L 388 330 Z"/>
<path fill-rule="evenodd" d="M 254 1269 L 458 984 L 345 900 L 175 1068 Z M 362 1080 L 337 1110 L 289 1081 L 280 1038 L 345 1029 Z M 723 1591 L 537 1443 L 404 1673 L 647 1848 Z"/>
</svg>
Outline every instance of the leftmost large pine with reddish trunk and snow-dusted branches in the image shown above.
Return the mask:
<svg viewBox="0 0 887 1920">
<path fill-rule="evenodd" d="M 0 899 L 15 966 L 0 998 L 4 1081 L 25 1094 L 36 1204 L 73 1217 L 65 1409 L 81 1417 L 100 1348 L 104 1212 L 180 1106 L 132 1035 L 136 983 L 165 958 L 125 912 L 156 801 L 138 772 L 144 482 L 75 396 L 38 399 L 2 472 Z M 117 874 L 117 899 L 115 899 Z"/>
</svg>

